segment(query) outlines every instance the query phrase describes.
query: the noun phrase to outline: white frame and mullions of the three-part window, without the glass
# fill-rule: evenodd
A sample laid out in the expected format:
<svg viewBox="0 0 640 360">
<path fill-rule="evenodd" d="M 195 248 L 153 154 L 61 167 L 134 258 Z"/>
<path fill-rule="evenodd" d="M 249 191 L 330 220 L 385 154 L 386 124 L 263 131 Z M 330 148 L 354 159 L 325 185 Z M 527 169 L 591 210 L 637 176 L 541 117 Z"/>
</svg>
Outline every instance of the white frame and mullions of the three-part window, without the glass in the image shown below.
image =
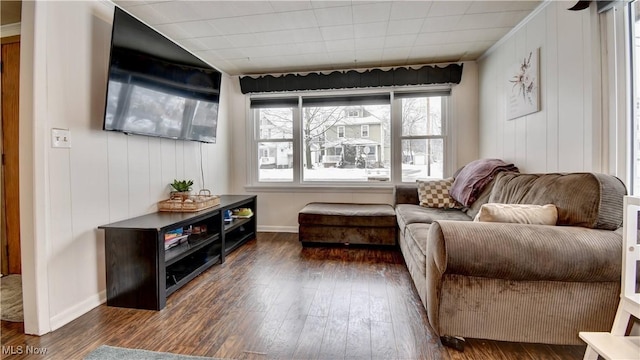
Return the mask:
<svg viewBox="0 0 640 360">
<path fill-rule="evenodd" d="M 450 144 L 453 142 L 453 137 L 455 134 L 452 133 L 451 123 L 453 119 L 451 116 L 453 114 L 452 108 L 453 104 L 453 91 L 450 85 L 444 86 L 426 86 L 426 87 L 403 87 L 398 89 L 396 87 L 393 88 L 382 88 L 382 89 L 371 89 L 371 90 L 362 90 L 362 89 L 349 89 L 349 90 L 334 90 L 334 91 L 296 91 L 295 93 L 273 93 L 273 94 L 251 94 L 246 97 L 246 140 L 248 142 L 248 151 L 247 155 L 247 183 L 245 185 L 245 189 L 250 191 L 280 191 L 280 190 L 291 190 L 291 189 L 321 189 L 321 188 L 330 188 L 335 190 L 338 189 L 366 189 L 366 190 L 386 190 L 389 188 L 393 188 L 393 186 L 398 184 L 409 184 L 412 182 L 402 182 L 402 152 L 401 152 L 401 143 L 402 140 L 399 138 L 402 134 L 402 121 L 401 118 L 398 117 L 399 105 L 397 104 L 398 99 L 394 99 L 395 93 L 400 92 L 418 92 L 424 94 L 446 94 L 447 101 L 446 107 L 442 108 L 442 132 L 443 134 L 440 136 L 436 136 L 438 138 L 443 138 L 443 177 L 446 177 L 451 174 L 452 164 L 455 157 L 455 152 L 451 149 Z M 303 134 L 302 134 L 302 108 L 303 108 L 303 98 L 309 97 L 330 97 L 330 96 L 368 96 L 368 95 L 379 95 L 388 93 L 390 95 L 390 124 L 389 124 L 389 137 L 390 137 L 390 167 L 389 167 L 389 181 L 304 181 L 302 177 L 303 173 L 303 153 L 302 153 L 302 145 L 303 145 Z M 257 167 L 257 156 L 253 156 L 257 154 L 257 146 L 258 143 L 261 142 L 257 137 L 257 126 L 254 119 L 253 109 L 250 108 L 252 99 L 261 99 L 268 101 L 269 99 L 276 99 L 279 97 L 297 97 L 298 105 L 294 108 L 294 121 L 293 121 L 293 180 L 292 181 L 259 181 L 259 169 Z M 397 120 L 396 120 L 397 119 Z M 345 129 L 346 131 L 346 129 Z"/>
</svg>

